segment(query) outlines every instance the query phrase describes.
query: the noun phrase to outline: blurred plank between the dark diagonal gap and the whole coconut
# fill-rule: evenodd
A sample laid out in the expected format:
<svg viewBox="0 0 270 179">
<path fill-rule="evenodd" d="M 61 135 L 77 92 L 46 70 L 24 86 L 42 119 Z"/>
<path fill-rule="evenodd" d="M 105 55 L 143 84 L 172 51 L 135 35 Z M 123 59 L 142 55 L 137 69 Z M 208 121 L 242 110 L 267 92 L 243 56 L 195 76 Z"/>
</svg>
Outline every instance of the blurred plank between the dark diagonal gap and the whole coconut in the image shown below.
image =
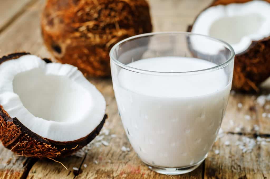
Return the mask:
<svg viewBox="0 0 270 179">
<path fill-rule="evenodd" d="M 15 51 L 28 51 L 32 54 L 39 55 L 38 51 L 43 47 L 39 26 L 40 11 L 44 2 L 43 0 L 39 0 L 29 6 L 25 13 L 0 34 L 0 42 L 5 42 L 0 44 L 0 56 Z M 46 57 L 52 57 L 47 51 L 45 54 Z"/>
</svg>

